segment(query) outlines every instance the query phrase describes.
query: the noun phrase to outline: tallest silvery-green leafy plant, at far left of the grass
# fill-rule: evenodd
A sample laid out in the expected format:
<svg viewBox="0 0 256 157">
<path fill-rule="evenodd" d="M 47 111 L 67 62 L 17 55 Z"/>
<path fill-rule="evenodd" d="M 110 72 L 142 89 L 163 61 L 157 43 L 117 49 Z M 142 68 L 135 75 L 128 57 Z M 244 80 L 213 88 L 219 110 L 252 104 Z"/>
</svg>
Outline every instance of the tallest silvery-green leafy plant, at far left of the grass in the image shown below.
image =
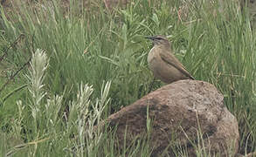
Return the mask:
<svg viewBox="0 0 256 157">
<path fill-rule="evenodd" d="M 32 127 L 28 127 L 31 130 L 31 135 L 27 134 L 27 139 L 31 142 L 21 143 L 16 147 L 12 147 L 10 151 L 6 154 L 6 156 L 10 156 L 10 154 L 16 154 L 17 151 L 24 149 L 24 147 L 28 147 L 29 145 L 33 145 L 31 147 L 30 154 L 32 156 L 36 156 L 38 143 L 48 140 L 49 137 L 42 137 L 43 133 L 56 133 L 56 124 L 60 121 L 58 119 L 59 110 L 61 107 L 63 96 L 54 96 L 52 99 L 47 99 L 47 101 L 43 101 L 45 99 L 46 92 L 44 91 L 44 78 L 45 71 L 49 65 L 49 61 L 43 50 L 37 50 L 34 54 L 32 54 L 29 72 L 26 75 L 28 91 L 30 93 L 30 101 L 29 103 L 22 102 L 21 100 L 17 101 L 18 108 L 18 119 L 17 126 L 14 128 L 16 133 L 22 132 L 22 124 L 24 119 L 24 109 L 25 106 L 29 106 L 30 113 L 33 120 L 29 124 Z"/>
</svg>

